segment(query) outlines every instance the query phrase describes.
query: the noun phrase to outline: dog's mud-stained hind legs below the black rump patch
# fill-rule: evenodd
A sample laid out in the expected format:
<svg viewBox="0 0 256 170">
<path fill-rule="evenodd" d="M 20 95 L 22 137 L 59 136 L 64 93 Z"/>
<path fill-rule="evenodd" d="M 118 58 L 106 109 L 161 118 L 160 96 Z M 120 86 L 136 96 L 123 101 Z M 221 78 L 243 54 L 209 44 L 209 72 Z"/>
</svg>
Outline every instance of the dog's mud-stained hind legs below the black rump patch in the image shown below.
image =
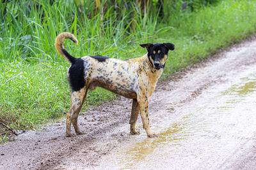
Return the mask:
<svg viewBox="0 0 256 170">
<path fill-rule="evenodd" d="M 79 127 L 77 125 L 77 118 L 78 118 L 79 112 L 83 106 L 84 99 L 87 94 L 87 90 L 88 90 L 87 87 L 84 87 L 83 89 L 81 89 L 79 91 L 71 93 L 71 106 L 70 106 L 70 110 L 67 115 L 67 131 L 66 131 L 67 137 L 71 136 L 71 132 L 70 132 L 71 122 L 74 126 L 76 134 L 84 134 L 83 132 L 81 132 L 79 130 Z"/>
</svg>

